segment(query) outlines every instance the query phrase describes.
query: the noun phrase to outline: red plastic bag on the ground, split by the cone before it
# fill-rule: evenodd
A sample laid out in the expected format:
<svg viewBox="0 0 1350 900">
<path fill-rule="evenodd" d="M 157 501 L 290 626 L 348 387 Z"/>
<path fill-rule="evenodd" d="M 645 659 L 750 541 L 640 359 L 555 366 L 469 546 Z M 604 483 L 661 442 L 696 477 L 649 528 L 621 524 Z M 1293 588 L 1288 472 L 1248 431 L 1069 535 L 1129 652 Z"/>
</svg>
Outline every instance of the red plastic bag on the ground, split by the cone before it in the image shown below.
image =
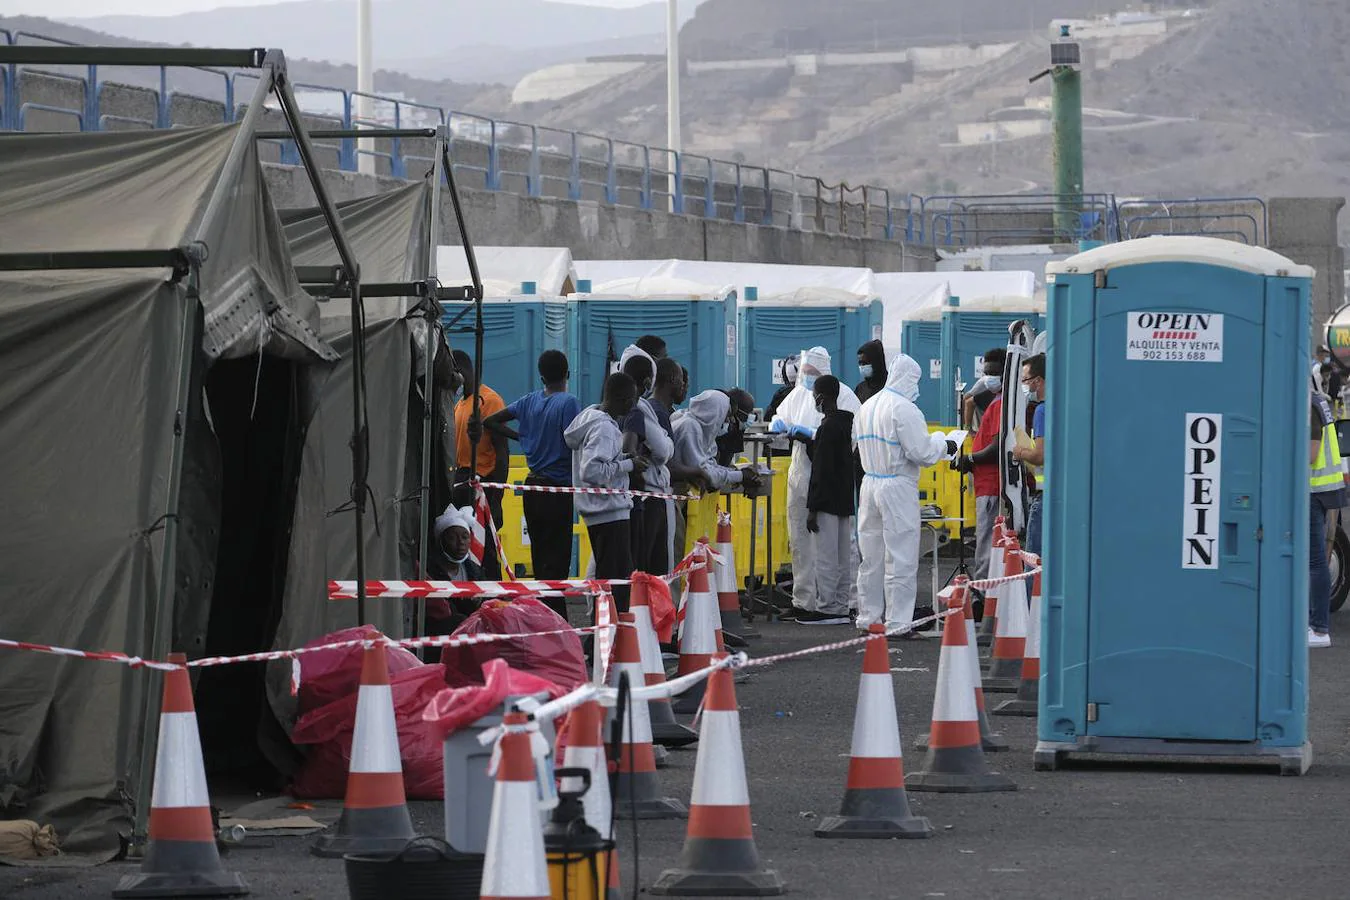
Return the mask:
<svg viewBox="0 0 1350 900">
<path fill-rule="evenodd" d="M 444 796 L 441 737 L 423 721 L 423 710 L 446 687 L 440 664 L 418 665 L 389 679 L 394 696 L 394 723 L 404 765 L 404 791 L 409 800 Z M 301 799 L 340 799 L 347 792 L 351 768 L 351 737 L 356 727 L 356 694 L 340 698 L 306 715 L 292 731 L 297 745 L 312 745 L 296 773 L 290 793 Z"/>
</svg>

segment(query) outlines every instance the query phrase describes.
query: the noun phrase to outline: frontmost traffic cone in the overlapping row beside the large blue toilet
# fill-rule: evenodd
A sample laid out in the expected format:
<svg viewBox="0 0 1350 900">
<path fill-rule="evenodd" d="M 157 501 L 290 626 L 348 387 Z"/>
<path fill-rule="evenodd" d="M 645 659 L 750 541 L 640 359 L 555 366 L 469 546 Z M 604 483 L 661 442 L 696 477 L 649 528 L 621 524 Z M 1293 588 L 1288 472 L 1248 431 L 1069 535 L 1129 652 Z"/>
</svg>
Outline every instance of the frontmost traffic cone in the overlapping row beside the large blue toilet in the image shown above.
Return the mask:
<svg viewBox="0 0 1350 900">
<path fill-rule="evenodd" d="M 948 609 L 964 609 L 969 602 L 964 584 L 957 586 Z M 975 706 L 969 654 L 975 653 L 965 629 L 942 629 L 942 650 L 937 664 L 937 692 L 933 698 L 933 730 L 923 768 L 905 776 L 910 791 L 976 793 L 1017 791 L 1007 776 L 990 772 L 980 748 L 980 715 Z"/>
</svg>

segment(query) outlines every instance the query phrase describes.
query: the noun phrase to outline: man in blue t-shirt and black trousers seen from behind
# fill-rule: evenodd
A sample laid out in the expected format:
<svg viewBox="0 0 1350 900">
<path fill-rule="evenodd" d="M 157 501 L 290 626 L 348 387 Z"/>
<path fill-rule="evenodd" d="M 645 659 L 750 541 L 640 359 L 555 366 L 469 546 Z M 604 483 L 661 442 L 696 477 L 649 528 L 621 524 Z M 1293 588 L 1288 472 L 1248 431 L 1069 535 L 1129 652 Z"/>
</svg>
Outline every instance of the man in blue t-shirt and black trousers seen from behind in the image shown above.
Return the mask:
<svg viewBox="0 0 1350 900">
<path fill-rule="evenodd" d="M 539 356 L 539 378 L 544 390 L 525 394 L 483 422 L 497 434 L 520 441 L 529 464 L 526 484 L 572 484 L 572 452 L 563 443 L 563 430 L 572 424 L 582 406 L 567 393 L 567 356 L 545 349 Z M 512 429 L 508 422 L 520 425 Z M 521 503 L 535 578 L 566 579 L 572 567 L 572 495 L 526 491 Z"/>
</svg>

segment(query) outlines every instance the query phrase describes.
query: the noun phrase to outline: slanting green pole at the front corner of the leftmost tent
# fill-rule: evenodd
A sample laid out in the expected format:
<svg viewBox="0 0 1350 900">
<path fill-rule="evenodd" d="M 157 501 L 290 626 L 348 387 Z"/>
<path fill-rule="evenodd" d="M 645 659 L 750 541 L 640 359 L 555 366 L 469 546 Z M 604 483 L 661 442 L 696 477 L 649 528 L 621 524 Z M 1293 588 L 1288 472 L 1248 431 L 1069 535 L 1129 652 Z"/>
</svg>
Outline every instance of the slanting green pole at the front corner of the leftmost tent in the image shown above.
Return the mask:
<svg viewBox="0 0 1350 900">
<path fill-rule="evenodd" d="M 193 259 L 188 273 L 188 290 L 182 304 L 182 327 L 178 331 L 178 385 L 174 395 L 173 445 L 169 457 L 169 484 L 165 499 L 165 540 L 159 559 L 159 587 L 155 610 L 151 617 L 150 653 L 151 660 L 163 660 L 173 649 L 174 592 L 178 582 L 178 498 L 182 490 L 182 467 L 186 444 L 186 417 L 192 403 L 192 364 L 201 335 L 197 332 L 197 313 L 201 306 L 201 267 Z M 144 702 L 140 727 L 140 760 L 136 768 L 136 810 L 131 833 L 134 851 L 146 846 L 150 822 L 151 788 L 154 787 L 155 746 L 159 739 L 159 685 L 163 675 L 155 669 L 144 671 Z M 138 853 L 139 855 L 139 853 Z"/>
</svg>

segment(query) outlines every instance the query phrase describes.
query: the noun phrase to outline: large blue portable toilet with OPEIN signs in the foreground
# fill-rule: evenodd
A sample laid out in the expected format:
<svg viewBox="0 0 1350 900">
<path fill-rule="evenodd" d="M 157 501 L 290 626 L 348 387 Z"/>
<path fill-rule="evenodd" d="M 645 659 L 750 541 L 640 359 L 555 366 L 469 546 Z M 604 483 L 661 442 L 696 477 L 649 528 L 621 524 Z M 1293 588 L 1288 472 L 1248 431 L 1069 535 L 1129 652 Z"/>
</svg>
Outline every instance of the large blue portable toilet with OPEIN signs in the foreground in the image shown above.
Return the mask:
<svg viewBox="0 0 1350 900">
<path fill-rule="evenodd" d="M 1048 273 L 1035 766 L 1307 770 L 1312 270 L 1169 236 Z"/>
</svg>

